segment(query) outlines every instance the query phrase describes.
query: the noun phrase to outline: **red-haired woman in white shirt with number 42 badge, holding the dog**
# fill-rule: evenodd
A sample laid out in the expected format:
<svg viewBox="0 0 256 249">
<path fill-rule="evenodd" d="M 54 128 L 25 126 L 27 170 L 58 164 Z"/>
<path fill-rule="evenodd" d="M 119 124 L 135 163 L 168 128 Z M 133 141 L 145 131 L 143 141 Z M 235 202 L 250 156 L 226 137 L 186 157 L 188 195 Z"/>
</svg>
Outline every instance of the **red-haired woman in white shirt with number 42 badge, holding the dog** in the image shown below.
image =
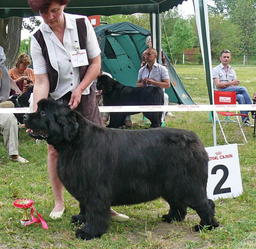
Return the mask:
<svg viewBox="0 0 256 249">
<path fill-rule="evenodd" d="M 34 111 L 42 98 L 62 99 L 90 121 L 102 125 L 95 91 L 91 87 L 100 73 L 100 48 L 86 16 L 63 12 L 68 2 L 28 0 L 32 10 L 39 12 L 44 20 L 31 38 L 35 74 Z M 63 185 L 56 171 L 57 152 L 49 144 L 47 148 L 48 173 L 55 198 L 50 217 L 57 219 L 64 212 Z M 118 221 L 129 219 L 110 210 Z"/>
</svg>

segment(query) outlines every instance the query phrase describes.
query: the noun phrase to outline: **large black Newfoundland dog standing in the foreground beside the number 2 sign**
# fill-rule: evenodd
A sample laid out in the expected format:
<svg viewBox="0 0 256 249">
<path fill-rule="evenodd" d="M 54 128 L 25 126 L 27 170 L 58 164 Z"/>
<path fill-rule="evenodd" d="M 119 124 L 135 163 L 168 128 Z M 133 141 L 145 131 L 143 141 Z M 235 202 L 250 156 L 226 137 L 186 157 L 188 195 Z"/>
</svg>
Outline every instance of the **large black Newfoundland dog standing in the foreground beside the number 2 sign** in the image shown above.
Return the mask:
<svg viewBox="0 0 256 249">
<path fill-rule="evenodd" d="M 76 237 L 106 233 L 110 206 L 164 198 L 170 205 L 164 221 L 181 221 L 187 207 L 200 224 L 218 227 L 214 202 L 206 196 L 208 155 L 193 132 L 174 128 L 119 130 L 104 128 L 78 112 L 42 99 L 35 113 L 24 115 L 30 136 L 45 139 L 58 152 L 57 172 L 80 203 L 73 222 L 84 222 Z"/>
</svg>

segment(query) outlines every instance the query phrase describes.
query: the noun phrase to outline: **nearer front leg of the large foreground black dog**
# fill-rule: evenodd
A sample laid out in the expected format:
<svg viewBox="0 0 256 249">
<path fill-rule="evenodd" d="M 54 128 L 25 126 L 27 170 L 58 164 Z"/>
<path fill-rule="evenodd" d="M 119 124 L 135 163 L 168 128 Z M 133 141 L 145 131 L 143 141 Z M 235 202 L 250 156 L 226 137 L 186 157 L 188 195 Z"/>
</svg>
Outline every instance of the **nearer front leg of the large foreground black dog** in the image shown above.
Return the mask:
<svg viewBox="0 0 256 249">
<path fill-rule="evenodd" d="M 94 239 L 106 233 L 109 227 L 110 206 L 94 198 L 86 205 L 86 224 L 76 231 L 76 237 L 84 240 Z"/>
</svg>

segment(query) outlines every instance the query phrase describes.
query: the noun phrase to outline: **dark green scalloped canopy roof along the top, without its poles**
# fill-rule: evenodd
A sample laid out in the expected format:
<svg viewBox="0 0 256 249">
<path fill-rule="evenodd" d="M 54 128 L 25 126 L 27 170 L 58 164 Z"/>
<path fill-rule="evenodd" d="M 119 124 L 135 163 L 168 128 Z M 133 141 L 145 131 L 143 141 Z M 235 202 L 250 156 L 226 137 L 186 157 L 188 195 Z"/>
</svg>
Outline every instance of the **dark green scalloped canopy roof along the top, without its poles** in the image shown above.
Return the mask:
<svg viewBox="0 0 256 249">
<path fill-rule="evenodd" d="M 133 13 L 161 13 L 168 11 L 184 0 L 71 0 L 66 12 L 86 16 L 102 15 L 111 16 L 115 14 Z M 30 10 L 27 0 L 0 1 L 0 18 L 10 16 L 29 17 L 34 16 Z"/>
</svg>

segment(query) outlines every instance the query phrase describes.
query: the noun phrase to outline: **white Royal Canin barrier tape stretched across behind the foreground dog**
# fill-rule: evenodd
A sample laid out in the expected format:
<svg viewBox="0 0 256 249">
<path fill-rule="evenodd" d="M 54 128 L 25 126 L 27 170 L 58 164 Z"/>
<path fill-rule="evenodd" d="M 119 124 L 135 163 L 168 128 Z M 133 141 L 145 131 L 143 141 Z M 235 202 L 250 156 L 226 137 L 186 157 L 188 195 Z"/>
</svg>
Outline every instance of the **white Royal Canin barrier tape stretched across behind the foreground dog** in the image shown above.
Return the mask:
<svg viewBox="0 0 256 249">
<path fill-rule="evenodd" d="M 155 111 L 255 111 L 256 105 L 134 105 L 101 106 L 101 113 L 155 112 Z M 29 107 L 0 108 L 0 113 L 30 113 Z"/>
</svg>

